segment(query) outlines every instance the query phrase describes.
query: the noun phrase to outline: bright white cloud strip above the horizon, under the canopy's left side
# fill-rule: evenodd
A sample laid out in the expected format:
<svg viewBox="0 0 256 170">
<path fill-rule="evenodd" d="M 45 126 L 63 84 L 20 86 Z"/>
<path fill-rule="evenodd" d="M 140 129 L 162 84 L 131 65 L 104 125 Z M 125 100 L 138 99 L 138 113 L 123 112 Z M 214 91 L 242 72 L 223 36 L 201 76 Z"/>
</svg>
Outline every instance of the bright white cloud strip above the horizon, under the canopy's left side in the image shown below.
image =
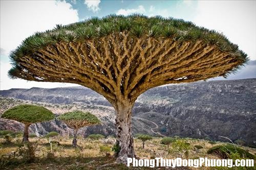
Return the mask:
<svg viewBox="0 0 256 170">
<path fill-rule="evenodd" d="M 0 90 L 7 90 L 10 88 L 55 88 L 55 87 L 70 87 L 70 86 L 80 86 L 71 83 L 50 83 L 50 82 L 34 82 L 26 81 L 22 79 L 9 79 L 7 76 L 8 70 L 11 68 L 10 63 L 0 62 L 1 67 L 1 77 L 0 77 Z"/>
</svg>

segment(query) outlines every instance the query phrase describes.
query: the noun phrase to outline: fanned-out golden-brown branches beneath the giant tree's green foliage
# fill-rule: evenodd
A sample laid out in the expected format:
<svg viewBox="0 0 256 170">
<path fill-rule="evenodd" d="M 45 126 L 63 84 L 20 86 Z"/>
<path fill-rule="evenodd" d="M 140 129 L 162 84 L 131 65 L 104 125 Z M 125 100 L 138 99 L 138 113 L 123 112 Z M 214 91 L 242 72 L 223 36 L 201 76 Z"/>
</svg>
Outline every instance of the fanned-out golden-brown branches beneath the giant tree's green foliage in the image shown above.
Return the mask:
<svg viewBox="0 0 256 170">
<path fill-rule="evenodd" d="M 134 103 L 150 88 L 205 80 L 238 65 L 232 54 L 202 40 L 136 38 L 129 32 L 59 42 L 19 60 L 19 78 L 80 84 L 102 94 L 114 107 L 117 101 Z"/>
</svg>

